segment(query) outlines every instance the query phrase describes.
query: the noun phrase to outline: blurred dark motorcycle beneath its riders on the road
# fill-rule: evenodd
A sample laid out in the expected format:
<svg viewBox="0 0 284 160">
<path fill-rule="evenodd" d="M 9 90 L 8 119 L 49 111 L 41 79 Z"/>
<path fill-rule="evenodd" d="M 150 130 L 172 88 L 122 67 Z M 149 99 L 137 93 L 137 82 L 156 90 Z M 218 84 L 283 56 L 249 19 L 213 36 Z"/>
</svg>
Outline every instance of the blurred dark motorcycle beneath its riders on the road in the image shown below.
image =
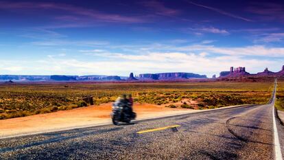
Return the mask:
<svg viewBox="0 0 284 160">
<path fill-rule="evenodd" d="M 136 113 L 129 111 L 129 106 L 123 106 L 120 103 L 113 104 L 113 111 L 110 114 L 113 124 L 118 125 L 119 122 L 130 123 L 131 120 L 136 118 Z"/>
</svg>

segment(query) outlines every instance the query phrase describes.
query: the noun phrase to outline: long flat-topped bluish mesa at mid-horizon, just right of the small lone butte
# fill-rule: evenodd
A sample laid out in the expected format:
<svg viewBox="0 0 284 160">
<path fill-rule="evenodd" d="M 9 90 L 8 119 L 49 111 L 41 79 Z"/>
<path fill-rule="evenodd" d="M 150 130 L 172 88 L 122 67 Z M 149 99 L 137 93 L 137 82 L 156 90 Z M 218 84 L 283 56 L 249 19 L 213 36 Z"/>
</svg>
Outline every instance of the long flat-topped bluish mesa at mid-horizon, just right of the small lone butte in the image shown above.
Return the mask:
<svg viewBox="0 0 284 160">
<path fill-rule="evenodd" d="M 177 80 L 177 79 L 189 79 L 189 78 L 207 78 L 206 75 L 200 75 L 196 73 L 145 73 L 139 74 L 141 80 Z"/>
</svg>

